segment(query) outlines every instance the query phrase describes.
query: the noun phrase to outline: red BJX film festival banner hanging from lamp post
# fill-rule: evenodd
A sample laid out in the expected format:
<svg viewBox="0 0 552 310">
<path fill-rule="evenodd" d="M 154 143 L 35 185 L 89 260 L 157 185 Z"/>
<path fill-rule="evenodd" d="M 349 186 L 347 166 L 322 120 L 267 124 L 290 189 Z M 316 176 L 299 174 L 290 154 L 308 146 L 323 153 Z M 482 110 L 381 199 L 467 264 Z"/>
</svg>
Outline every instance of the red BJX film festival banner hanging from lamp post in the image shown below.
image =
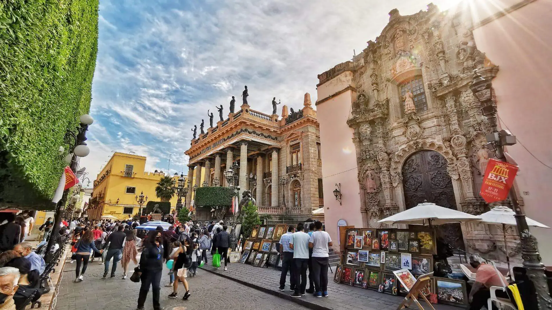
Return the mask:
<svg viewBox="0 0 552 310">
<path fill-rule="evenodd" d="M 488 203 L 506 200 L 517 171 L 516 165 L 489 159 L 479 195 Z"/>
</svg>

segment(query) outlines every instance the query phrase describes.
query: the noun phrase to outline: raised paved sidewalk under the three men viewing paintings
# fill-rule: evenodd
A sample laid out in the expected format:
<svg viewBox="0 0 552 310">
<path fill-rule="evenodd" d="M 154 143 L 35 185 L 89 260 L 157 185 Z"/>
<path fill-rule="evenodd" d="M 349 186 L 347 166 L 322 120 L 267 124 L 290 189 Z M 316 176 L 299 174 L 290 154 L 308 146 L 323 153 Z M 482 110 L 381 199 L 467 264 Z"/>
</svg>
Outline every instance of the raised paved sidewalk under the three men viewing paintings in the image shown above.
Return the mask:
<svg viewBox="0 0 552 310">
<path fill-rule="evenodd" d="M 224 264 L 224 263 L 223 263 Z M 262 290 L 269 290 L 269 293 L 289 298 L 294 302 L 306 302 L 309 308 L 322 308 L 332 310 L 351 310 L 351 309 L 366 309 L 366 310 L 395 310 L 404 299 L 400 296 L 392 296 L 385 293 L 378 293 L 373 290 L 364 290 L 360 287 L 352 287 L 344 284 L 333 282 L 333 274 L 328 271 L 328 295 L 329 297 L 316 298 L 310 294 L 301 298 L 291 298 L 289 294 L 289 275 L 286 279 L 286 291 L 278 291 L 280 281 L 280 271 L 273 268 L 258 268 L 251 265 L 232 263 L 228 265 L 228 270 L 223 268 L 215 270 L 212 266 L 205 265 L 204 268 L 208 271 L 221 275 L 221 277 L 229 277 L 237 281 L 241 281 L 247 285 L 254 284 Z M 335 267 L 332 268 L 335 271 Z M 308 274 L 308 272 L 307 272 Z M 308 288 L 308 284 L 307 284 Z M 268 291 L 266 291 L 268 292 Z M 422 303 L 422 306 L 427 307 L 427 304 Z M 415 307 L 415 306 L 411 306 Z M 457 310 L 458 307 L 447 306 L 444 304 L 434 304 L 436 310 Z"/>
</svg>

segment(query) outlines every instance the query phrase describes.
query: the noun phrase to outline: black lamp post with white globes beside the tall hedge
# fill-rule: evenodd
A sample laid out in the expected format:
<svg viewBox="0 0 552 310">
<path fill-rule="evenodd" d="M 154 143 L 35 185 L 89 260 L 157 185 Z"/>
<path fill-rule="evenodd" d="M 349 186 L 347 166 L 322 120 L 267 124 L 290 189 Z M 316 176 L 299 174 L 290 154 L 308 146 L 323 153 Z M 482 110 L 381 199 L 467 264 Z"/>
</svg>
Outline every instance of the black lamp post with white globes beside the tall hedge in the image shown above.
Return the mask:
<svg viewBox="0 0 552 310">
<path fill-rule="evenodd" d="M 90 149 L 88 146 L 86 146 L 86 131 L 88 130 L 88 126 L 92 125 L 94 122 L 94 119 L 92 116 L 88 114 L 81 115 L 79 118 L 79 126 L 76 128 L 76 131 L 67 130 L 65 133 L 65 137 L 63 137 L 63 140 L 69 145 L 69 153 L 66 156 L 66 159 L 71 159 L 70 168 L 73 170 L 74 173 L 77 172 L 77 157 L 86 157 L 90 153 Z M 61 148 L 60 148 L 61 151 Z M 65 173 L 65 172 L 64 172 Z M 52 232 L 50 236 L 57 236 L 57 234 L 60 231 L 60 223 L 61 223 L 61 213 L 65 209 L 65 202 L 67 201 L 67 194 L 69 193 L 70 189 L 66 189 L 63 191 L 63 195 L 61 196 L 61 200 L 57 202 L 56 205 L 56 211 L 54 214 L 54 227 L 52 228 Z M 55 238 L 50 238 L 48 240 L 48 244 L 46 245 L 46 254 L 45 254 L 45 261 L 48 263 L 52 259 L 52 255 L 54 253 L 51 253 L 51 249 L 54 247 Z"/>
</svg>

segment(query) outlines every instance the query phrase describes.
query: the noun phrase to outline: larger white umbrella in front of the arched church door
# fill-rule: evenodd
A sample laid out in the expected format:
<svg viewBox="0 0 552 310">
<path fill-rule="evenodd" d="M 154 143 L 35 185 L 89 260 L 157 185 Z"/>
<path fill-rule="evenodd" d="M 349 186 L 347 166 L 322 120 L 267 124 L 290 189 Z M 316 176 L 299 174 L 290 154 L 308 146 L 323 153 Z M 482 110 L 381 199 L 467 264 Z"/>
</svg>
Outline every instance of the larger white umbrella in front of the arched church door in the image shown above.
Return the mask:
<svg viewBox="0 0 552 310">
<path fill-rule="evenodd" d="M 441 225 L 447 223 L 460 223 L 479 220 L 481 217 L 464 213 L 458 210 L 448 209 L 431 202 L 423 202 L 417 206 L 399 212 L 378 223 L 386 224 L 410 224 L 410 225 Z"/>
</svg>

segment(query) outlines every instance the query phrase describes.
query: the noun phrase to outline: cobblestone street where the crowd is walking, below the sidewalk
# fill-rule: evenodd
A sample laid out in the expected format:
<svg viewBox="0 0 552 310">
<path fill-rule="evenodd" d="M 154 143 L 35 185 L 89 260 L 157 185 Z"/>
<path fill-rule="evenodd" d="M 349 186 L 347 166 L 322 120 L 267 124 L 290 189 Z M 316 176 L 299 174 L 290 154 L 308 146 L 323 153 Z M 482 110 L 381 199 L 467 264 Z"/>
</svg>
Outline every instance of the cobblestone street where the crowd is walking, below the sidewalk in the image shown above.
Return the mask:
<svg viewBox="0 0 552 310">
<path fill-rule="evenodd" d="M 112 263 L 113 264 L 113 263 Z M 111 265 L 111 264 L 110 264 Z M 111 266 L 110 266 L 111 268 Z M 123 268 L 117 266 L 116 277 L 103 279 L 104 266 L 95 260 L 88 263 L 84 281 L 72 282 L 75 279 L 76 264 L 66 264 L 60 292 L 57 297 L 56 310 L 99 310 L 136 309 L 140 283 L 121 279 Z M 132 265 L 130 270 L 134 270 Z M 184 287 L 179 287 L 179 297 L 167 298 L 172 287 L 163 287 L 168 283 L 168 270 L 163 270 L 161 280 L 161 306 L 166 310 L 306 310 L 282 298 L 255 290 L 198 269 L 197 277 L 188 278 L 190 284 L 189 300 L 183 301 Z M 146 301 L 146 309 L 152 309 L 151 290 Z"/>
</svg>

